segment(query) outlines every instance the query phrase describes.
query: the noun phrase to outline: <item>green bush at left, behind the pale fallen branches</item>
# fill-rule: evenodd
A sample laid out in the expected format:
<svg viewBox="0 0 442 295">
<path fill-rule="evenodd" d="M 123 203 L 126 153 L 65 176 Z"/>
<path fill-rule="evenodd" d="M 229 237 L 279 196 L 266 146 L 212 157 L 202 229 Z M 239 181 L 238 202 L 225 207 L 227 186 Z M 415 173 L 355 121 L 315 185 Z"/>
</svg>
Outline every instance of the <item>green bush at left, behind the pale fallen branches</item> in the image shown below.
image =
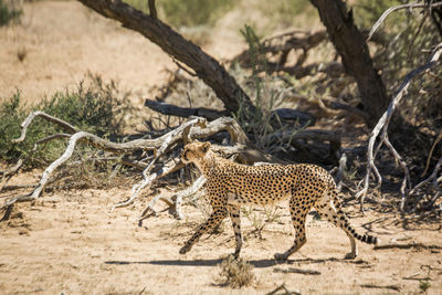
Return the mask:
<svg viewBox="0 0 442 295">
<path fill-rule="evenodd" d="M 27 139 L 12 144 L 20 136 L 20 124 L 33 110 L 43 110 L 71 125 L 98 136 L 110 136 L 123 131 L 124 114 L 128 110 L 127 95 L 117 89 L 115 83 L 103 83 L 99 76 L 90 75 L 77 89 L 57 92 L 35 106 L 20 103 L 20 92 L 0 104 L 0 160 L 15 162 L 27 156 L 36 140 L 56 133 L 65 133 L 60 126 L 36 118 L 28 129 Z M 64 151 L 65 140 L 44 144 L 28 165 L 38 167 L 55 160 Z"/>
</svg>

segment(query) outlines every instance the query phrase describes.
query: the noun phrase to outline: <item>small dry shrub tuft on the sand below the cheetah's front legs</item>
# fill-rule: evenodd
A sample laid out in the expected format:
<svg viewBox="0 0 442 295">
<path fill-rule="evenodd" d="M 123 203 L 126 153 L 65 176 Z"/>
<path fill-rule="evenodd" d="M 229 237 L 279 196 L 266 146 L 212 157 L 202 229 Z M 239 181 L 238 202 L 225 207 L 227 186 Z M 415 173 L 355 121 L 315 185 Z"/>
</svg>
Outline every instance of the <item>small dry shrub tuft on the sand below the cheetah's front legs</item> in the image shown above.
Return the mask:
<svg viewBox="0 0 442 295">
<path fill-rule="evenodd" d="M 223 259 L 220 267 L 220 275 L 225 277 L 224 284 L 234 288 L 250 286 L 255 278 L 253 265 L 242 259 L 234 259 L 232 255 Z"/>
</svg>

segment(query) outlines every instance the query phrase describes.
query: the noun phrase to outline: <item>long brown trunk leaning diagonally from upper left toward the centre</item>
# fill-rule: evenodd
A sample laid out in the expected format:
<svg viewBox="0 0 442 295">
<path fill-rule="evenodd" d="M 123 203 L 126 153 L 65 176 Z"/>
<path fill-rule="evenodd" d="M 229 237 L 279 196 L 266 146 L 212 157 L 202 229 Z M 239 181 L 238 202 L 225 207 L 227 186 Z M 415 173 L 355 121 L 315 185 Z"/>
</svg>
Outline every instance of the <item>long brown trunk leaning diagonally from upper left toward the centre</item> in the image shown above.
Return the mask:
<svg viewBox="0 0 442 295">
<path fill-rule="evenodd" d="M 214 91 L 228 110 L 238 112 L 241 103 L 253 108 L 249 96 L 218 61 L 158 20 L 156 13 L 148 15 L 120 0 L 78 1 L 106 18 L 122 22 L 123 27 L 139 32 L 173 59 L 191 67 Z M 149 2 L 154 4 L 154 1 Z"/>
</svg>

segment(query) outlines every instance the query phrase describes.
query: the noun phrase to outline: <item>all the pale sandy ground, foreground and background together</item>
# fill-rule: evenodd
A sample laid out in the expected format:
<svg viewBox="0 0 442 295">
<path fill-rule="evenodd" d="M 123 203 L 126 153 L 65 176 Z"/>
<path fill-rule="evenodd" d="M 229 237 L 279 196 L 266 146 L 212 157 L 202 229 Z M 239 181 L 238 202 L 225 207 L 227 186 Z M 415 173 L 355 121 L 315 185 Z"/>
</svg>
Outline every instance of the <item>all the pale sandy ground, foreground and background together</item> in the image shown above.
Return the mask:
<svg viewBox="0 0 442 295">
<path fill-rule="evenodd" d="M 231 32 L 238 18 L 236 11 L 221 20 L 229 30 L 213 31 L 211 38 L 219 42 L 209 42 L 204 50 L 218 59 L 241 51 L 244 44 Z M 134 104 L 143 105 L 150 87 L 164 82 L 162 70 L 175 66 L 155 44 L 76 1 L 27 3 L 21 25 L 0 28 L 0 97 L 18 87 L 28 103 L 75 86 L 91 71 L 135 91 L 139 95 Z M 23 62 L 19 51 L 25 52 Z M 11 183 L 36 181 L 36 176 L 21 175 Z M 190 253 L 179 255 L 204 220 L 202 211 L 187 206 L 185 220 L 161 212 L 138 226 L 145 199 L 108 212 L 128 191 L 129 187 L 59 191 L 18 206 L 11 220 L 0 223 L 0 294 L 265 294 L 283 283 L 302 294 L 419 294 L 421 281 L 430 283 L 428 294 L 442 294 L 441 250 L 373 250 L 359 243 L 359 257 L 346 261 L 349 243 L 344 232 L 312 215 L 305 246 L 286 264 L 276 264 L 273 254 L 293 241 L 286 208 L 262 239 L 243 218 L 242 257 L 254 266 L 256 278 L 249 287 L 231 288 L 219 275 L 221 259 L 234 246 L 229 221 L 221 233 L 204 236 Z M 440 224 L 406 226 L 393 214 L 369 211 L 361 217 L 355 206 L 346 211 L 359 231 L 370 229 L 383 243 L 442 245 Z M 284 273 L 291 268 L 320 274 Z"/>
</svg>

